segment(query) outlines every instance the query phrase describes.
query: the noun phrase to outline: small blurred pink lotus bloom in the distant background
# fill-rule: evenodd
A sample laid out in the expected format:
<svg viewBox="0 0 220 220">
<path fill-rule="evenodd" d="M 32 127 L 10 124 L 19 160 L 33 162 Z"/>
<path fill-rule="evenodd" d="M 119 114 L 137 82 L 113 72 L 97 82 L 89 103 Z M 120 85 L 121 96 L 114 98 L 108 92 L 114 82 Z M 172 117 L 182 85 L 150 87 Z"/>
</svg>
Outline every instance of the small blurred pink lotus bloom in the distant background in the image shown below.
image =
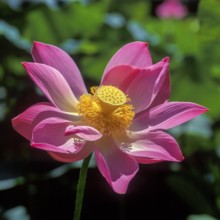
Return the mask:
<svg viewBox="0 0 220 220">
<path fill-rule="evenodd" d="M 187 8 L 180 0 L 164 0 L 156 8 L 156 15 L 160 18 L 184 18 L 188 14 Z"/>
</svg>

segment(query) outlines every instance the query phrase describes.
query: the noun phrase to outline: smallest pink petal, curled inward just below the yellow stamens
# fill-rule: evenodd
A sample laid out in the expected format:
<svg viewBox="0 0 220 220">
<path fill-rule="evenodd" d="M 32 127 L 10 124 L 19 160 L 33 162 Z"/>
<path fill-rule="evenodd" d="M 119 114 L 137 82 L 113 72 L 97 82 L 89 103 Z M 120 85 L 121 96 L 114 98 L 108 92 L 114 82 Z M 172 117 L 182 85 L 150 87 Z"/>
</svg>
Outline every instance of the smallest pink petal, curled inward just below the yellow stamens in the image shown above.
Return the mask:
<svg viewBox="0 0 220 220">
<path fill-rule="evenodd" d="M 78 137 L 88 141 L 96 141 L 102 137 L 102 134 L 95 128 L 74 125 L 70 125 L 66 128 L 65 135 L 77 135 Z"/>
</svg>

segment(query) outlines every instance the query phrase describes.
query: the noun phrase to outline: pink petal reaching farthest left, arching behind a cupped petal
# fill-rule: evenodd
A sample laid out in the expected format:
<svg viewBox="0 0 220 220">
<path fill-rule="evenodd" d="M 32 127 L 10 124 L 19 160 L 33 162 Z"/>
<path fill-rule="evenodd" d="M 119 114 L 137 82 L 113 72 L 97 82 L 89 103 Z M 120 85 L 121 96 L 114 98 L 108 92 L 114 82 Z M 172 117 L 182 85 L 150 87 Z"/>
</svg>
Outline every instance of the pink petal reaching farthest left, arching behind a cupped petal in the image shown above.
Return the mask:
<svg viewBox="0 0 220 220">
<path fill-rule="evenodd" d="M 31 140 L 34 127 L 40 121 L 49 117 L 60 117 L 71 121 L 80 120 L 80 116 L 67 114 L 50 103 L 42 102 L 29 107 L 23 113 L 13 118 L 12 125 L 19 134 Z"/>
</svg>

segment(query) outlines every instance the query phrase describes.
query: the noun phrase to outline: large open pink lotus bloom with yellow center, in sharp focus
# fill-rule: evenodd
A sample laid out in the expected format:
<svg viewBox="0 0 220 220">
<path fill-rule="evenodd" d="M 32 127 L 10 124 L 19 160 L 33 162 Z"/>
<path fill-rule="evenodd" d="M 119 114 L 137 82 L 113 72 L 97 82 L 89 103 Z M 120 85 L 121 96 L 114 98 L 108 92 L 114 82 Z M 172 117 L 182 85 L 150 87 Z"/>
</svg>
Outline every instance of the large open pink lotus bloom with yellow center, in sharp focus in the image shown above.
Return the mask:
<svg viewBox="0 0 220 220">
<path fill-rule="evenodd" d="M 94 152 L 99 171 L 117 193 L 126 192 L 138 163 L 183 160 L 164 130 L 204 113 L 190 102 L 168 102 L 169 59 L 152 64 L 148 46 L 133 42 L 107 64 L 88 93 L 79 69 L 61 49 L 35 42 L 34 62 L 23 66 L 49 102 L 15 117 L 14 129 L 55 160 L 74 162 Z"/>
</svg>

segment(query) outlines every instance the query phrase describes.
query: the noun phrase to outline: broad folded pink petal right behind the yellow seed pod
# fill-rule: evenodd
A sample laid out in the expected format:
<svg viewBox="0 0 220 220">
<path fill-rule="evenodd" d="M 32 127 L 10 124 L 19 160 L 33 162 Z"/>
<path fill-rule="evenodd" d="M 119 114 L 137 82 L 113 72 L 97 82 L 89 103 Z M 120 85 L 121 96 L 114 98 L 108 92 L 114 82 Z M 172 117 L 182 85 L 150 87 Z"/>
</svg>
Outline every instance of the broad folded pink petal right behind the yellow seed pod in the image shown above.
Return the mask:
<svg viewBox="0 0 220 220">
<path fill-rule="evenodd" d="M 161 88 L 169 86 L 164 85 L 167 77 L 169 59 L 149 66 L 146 69 L 137 69 L 132 66 L 117 66 L 112 68 L 102 79 L 103 85 L 113 85 L 118 87 L 131 99 L 135 112 L 146 109 L 155 100 Z M 161 92 L 160 92 L 161 93 Z M 159 95 L 156 102 L 162 102 L 167 95 Z"/>
</svg>

